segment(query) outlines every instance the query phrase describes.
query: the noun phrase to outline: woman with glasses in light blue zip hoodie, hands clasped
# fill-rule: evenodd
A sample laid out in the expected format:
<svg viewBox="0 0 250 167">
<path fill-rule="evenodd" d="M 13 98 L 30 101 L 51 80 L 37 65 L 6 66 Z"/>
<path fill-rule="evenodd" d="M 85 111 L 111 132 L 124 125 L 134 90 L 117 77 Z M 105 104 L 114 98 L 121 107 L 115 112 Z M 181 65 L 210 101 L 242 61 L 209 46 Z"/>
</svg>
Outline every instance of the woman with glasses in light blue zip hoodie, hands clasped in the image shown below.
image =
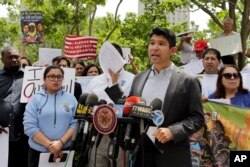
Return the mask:
<svg viewBox="0 0 250 167">
<path fill-rule="evenodd" d="M 24 113 L 24 131 L 29 136 L 29 167 L 37 167 L 40 153 L 50 152 L 54 158 L 71 145 L 76 120 L 77 101 L 64 92 L 64 71 L 48 66 L 43 74 L 45 89 L 33 95 Z"/>
</svg>

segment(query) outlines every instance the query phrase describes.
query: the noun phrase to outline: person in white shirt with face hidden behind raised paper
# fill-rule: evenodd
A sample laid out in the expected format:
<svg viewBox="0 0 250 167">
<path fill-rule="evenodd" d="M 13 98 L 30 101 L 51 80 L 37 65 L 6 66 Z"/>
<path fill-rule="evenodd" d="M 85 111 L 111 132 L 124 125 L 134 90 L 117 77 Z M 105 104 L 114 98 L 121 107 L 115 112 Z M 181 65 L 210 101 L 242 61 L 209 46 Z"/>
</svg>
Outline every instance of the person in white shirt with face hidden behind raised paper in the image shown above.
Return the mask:
<svg viewBox="0 0 250 167">
<path fill-rule="evenodd" d="M 122 56 L 122 50 L 120 46 L 117 44 L 112 45 Z M 134 74 L 125 71 L 123 68 L 121 68 L 117 73 L 109 69 L 109 74 L 103 73 L 99 76 L 96 76 L 93 80 L 90 81 L 86 93 L 94 93 L 98 96 L 99 100 L 103 99 L 106 100 L 107 103 L 115 104 L 120 95 L 127 96 L 129 94 L 133 78 Z M 110 91 L 107 91 L 107 89 L 109 89 Z M 114 89 L 116 89 L 117 91 L 114 91 Z M 107 92 L 111 92 L 111 94 Z M 112 166 L 112 160 L 109 159 L 107 155 L 110 140 L 111 139 L 109 135 L 103 135 L 97 149 L 95 143 L 91 150 L 89 167 Z M 121 148 L 119 149 L 119 155 L 116 160 L 116 163 L 116 166 L 122 166 Z"/>
</svg>

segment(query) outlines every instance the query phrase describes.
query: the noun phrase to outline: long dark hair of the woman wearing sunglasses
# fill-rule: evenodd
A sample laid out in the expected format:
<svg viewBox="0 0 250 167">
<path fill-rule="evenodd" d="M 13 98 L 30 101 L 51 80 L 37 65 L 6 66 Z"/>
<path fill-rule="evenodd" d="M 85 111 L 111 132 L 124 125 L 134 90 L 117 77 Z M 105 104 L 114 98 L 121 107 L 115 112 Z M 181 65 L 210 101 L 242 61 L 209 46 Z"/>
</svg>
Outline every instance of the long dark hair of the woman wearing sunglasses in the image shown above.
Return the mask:
<svg viewBox="0 0 250 167">
<path fill-rule="evenodd" d="M 218 79 L 217 79 L 217 84 L 216 84 L 216 91 L 215 91 L 215 95 L 218 98 L 226 98 L 226 92 L 225 92 L 225 87 L 222 84 L 222 77 L 223 77 L 223 72 L 225 71 L 226 68 L 232 67 L 234 68 L 238 73 L 239 73 L 239 79 L 240 79 L 240 85 L 238 87 L 238 91 L 242 92 L 242 93 L 247 93 L 248 90 L 243 88 L 243 83 L 242 83 L 242 76 L 240 73 L 240 70 L 237 66 L 235 65 L 225 65 L 224 67 L 222 67 L 218 73 Z"/>
</svg>

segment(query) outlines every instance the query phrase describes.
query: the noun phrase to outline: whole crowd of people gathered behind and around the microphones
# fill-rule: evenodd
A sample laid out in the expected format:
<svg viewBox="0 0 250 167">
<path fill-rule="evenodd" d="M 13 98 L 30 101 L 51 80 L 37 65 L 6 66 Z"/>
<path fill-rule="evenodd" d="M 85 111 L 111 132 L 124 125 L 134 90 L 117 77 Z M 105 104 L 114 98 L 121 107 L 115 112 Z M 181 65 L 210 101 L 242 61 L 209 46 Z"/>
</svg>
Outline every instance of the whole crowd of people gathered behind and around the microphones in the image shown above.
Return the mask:
<svg viewBox="0 0 250 167">
<path fill-rule="evenodd" d="M 224 32 L 219 37 L 235 34 L 232 24 L 229 18 L 225 19 Z M 161 110 L 165 119 L 152 133 L 155 143 L 144 137 L 132 164 L 123 159 L 123 148 L 120 147 L 115 160 L 117 166 L 216 165 L 215 159 L 211 158 L 214 150 L 204 149 L 210 141 L 204 137 L 208 128 L 205 118 L 210 115 L 204 115 L 202 102 L 211 98 L 229 99 L 231 105 L 250 107 L 250 93 L 243 88 L 235 56 L 229 55 L 225 59 L 219 50 L 209 48 L 204 40 L 198 40 L 193 45 L 193 34 L 181 36 L 177 46 L 175 34 L 166 28 L 152 29 L 149 38 L 148 56 L 152 66 L 143 72 L 138 72 L 133 57 L 130 57 L 133 74 L 124 67 L 118 71 L 109 68 L 106 74 L 96 64 L 86 64 L 78 59 L 71 63 L 62 56 L 54 58 L 53 65 L 47 66 L 43 73 L 44 90 L 33 95 L 27 104 L 20 103 L 20 97 L 24 68 L 31 66 L 31 62 L 26 57 L 20 57 L 17 48 L 5 47 L 1 53 L 4 67 L 0 70 L 0 135 L 7 133 L 5 128 L 9 128 L 9 167 L 38 167 L 40 153 L 48 152 L 58 158 L 62 156 L 63 150 L 71 147 L 71 138 L 76 130 L 74 115 L 77 100 L 82 93 L 96 94 L 99 100 L 113 104 L 117 102 L 117 97 L 124 96 L 142 97 L 146 105 L 155 98 L 162 101 Z M 112 45 L 123 57 L 121 47 Z M 178 51 L 183 65 L 202 59 L 204 70 L 200 74 L 218 74 L 216 90 L 212 94 L 202 94 L 198 78 L 181 71 L 171 61 L 171 56 Z M 220 68 L 222 62 L 224 66 Z M 81 85 L 75 82 L 75 92 L 71 95 L 61 89 L 65 68 L 75 68 L 75 76 L 96 77 L 84 92 Z M 151 128 L 150 124 L 147 126 Z M 139 129 L 133 127 L 132 135 L 141 136 Z M 112 137 L 103 135 L 99 146 L 90 151 L 89 162 L 85 165 L 116 166 L 107 156 L 110 140 Z M 140 142 L 138 138 L 135 140 Z M 130 149 L 133 151 L 135 147 Z M 205 153 L 210 159 L 206 159 Z M 200 159 L 204 162 L 200 162 Z M 228 161 L 220 165 L 227 166 Z"/>
</svg>

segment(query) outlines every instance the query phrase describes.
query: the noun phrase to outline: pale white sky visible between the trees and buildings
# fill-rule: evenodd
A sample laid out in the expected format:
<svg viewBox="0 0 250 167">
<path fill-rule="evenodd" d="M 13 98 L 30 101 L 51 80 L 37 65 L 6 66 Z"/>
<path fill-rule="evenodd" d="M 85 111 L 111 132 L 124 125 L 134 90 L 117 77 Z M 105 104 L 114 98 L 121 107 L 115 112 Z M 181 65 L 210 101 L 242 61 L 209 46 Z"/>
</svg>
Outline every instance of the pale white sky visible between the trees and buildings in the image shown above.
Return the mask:
<svg viewBox="0 0 250 167">
<path fill-rule="evenodd" d="M 99 6 L 97 9 L 96 16 L 105 16 L 107 12 L 115 14 L 116 6 L 119 0 L 107 0 L 106 6 Z M 118 14 L 121 16 L 121 19 L 124 19 L 127 12 L 137 13 L 138 11 L 138 0 L 123 0 L 120 5 Z M 0 17 L 7 17 L 8 11 L 6 6 L 0 5 Z M 207 22 L 209 16 L 201 10 L 190 13 L 191 21 L 194 21 L 199 25 L 199 30 L 203 30 L 207 27 Z"/>
</svg>

